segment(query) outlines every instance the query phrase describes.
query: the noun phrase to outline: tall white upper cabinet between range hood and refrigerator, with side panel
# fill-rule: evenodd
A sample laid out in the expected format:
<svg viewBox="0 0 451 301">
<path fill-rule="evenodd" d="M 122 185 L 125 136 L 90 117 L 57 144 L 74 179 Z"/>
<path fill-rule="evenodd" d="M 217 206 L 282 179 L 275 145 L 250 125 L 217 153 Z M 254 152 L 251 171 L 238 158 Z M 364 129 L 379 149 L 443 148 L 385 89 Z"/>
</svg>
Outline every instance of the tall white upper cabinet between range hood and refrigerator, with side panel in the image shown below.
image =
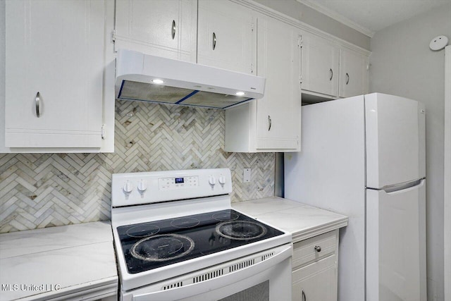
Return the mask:
<svg viewBox="0 0 451 301">
<path fill-rule="evenodd" d="M 257 26 L 257 75 L 264 98 L 226 110 L 226 152 L 296 152 L 300 149 L 300 32 L 268 16 Z"/>
</svg>

